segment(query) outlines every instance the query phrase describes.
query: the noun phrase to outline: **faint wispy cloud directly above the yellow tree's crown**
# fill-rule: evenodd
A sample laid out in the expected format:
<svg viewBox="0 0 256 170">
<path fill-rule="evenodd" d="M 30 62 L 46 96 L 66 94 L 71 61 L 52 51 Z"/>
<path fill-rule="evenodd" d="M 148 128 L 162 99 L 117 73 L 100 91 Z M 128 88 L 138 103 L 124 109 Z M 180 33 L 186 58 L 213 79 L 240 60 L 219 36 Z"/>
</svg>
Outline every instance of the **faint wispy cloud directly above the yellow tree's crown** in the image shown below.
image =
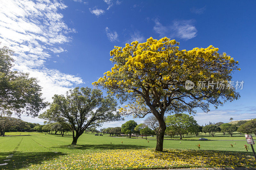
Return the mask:
<svg viewBox="0 0 256 170">
<path fill-rule="evenodd" d="M 155 19 L 154 22 L 155 26 L 153 29 L 160 36 L 166 36 L 170 38 L 178 37 L 185 40 L 196 37 L 197 29 L 193 25 L 193 20 L 173 21 L 169 26 L 162 25 L 158 19 Z"/>
</svg>

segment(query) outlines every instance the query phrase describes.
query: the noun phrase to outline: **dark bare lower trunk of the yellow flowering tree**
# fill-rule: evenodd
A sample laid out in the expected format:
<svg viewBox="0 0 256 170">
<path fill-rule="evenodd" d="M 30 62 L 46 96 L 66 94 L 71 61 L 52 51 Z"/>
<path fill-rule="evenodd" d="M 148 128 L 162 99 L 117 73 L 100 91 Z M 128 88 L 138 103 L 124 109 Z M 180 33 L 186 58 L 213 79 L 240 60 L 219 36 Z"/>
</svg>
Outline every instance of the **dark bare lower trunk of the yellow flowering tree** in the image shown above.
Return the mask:
<svg viewBox="0 0 256 170">
<path fill-rule="evenodd" d="M 163 151 L 164 144 L 164 132 L 166 129 L 166 124 L 164 122 L 164 116 L 158 119 L 159 129 L 156 135 L 156 151 Z"/>
</svg>

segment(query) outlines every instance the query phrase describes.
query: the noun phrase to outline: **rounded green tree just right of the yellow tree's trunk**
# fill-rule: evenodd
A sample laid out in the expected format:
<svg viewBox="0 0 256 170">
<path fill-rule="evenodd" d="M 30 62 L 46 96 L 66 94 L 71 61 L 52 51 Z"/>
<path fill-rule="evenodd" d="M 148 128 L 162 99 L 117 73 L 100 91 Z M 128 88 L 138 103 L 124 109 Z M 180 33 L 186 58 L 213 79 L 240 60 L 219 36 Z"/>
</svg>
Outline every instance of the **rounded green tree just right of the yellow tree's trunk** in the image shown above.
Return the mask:
<svg viewBox="0 0 256 170">
<path fill-rule="evenodd" d="M 185 134 L 190 126 L 197 125 L 194 117 L 187 114 L 169 115 L 165 122 L 167 127 L 172 126 L 176 133 L 180 135 L 180 140 L 182 140 L 182 134 Z"/>
</svg>

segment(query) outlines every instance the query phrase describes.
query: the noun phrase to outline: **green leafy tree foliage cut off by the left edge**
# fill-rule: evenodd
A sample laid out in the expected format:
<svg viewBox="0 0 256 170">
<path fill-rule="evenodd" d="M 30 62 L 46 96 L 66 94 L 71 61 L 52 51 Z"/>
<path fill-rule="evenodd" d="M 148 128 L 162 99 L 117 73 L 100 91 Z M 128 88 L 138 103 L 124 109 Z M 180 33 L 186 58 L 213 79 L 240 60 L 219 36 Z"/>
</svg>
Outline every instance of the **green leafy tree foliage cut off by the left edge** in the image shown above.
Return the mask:
<svg viewBox="0 0 256 170">
<path fill-rule="evenodd" d="M 21 114 L 36 117 L 48 103 L 42 98 L 42 87 L 36 78 L 11 70 L 13 53 L 7 47 L 0 48 L 0 115 L 15 113 L 18 117 Z"/>
</svg>

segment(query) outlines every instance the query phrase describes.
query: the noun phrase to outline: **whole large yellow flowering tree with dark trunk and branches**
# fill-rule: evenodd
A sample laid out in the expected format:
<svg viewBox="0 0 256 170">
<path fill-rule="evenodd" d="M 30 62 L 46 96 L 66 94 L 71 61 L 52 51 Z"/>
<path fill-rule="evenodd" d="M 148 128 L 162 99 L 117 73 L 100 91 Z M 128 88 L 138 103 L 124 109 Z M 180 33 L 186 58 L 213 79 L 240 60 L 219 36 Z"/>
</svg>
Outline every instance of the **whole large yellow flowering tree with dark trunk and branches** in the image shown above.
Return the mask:
<svg viewBox="0 0 256 170">
<path fill-rule="evenodd" d="M 152 113 L 159 122 L 156 150 L 163 151 L 166 125 L 164 114 L 195 114 L 199 107 L 209 111 L 209 105 L 216 108 L 226 101 L 237 100 L 240 95 L 228 87 L 232 73 L 238 68 L 226 53 L 219 54 L 212 45 L 207 48 L 180 50 L 179 42 L 150 37 L 144 43 L 138 41 L 116 47 L 110 51 L 114 67 L 104 77 L 92 83 L 101 86 L 109 94 L 116 95 L 121 103 L 123 115 L 143 118 Z M 194 82 L 222 82 L 195 86 L 187 90 L 186 80 Z M 209 88 L 210 87 L 210 88 Z"/>
</svg>

